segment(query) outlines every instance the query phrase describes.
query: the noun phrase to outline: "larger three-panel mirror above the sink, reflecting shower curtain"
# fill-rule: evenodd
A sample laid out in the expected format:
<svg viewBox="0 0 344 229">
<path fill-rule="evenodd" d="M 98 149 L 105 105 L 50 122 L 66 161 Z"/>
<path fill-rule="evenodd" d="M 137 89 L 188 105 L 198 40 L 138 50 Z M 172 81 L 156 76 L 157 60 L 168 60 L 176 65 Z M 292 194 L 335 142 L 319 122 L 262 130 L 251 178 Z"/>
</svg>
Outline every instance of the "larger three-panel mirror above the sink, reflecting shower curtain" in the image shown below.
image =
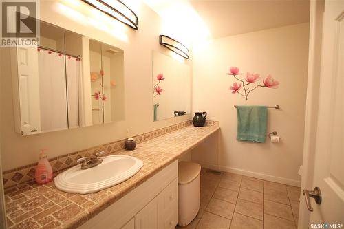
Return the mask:
<svg viewBox="0 0 344 229">
<path fill-rule="evenodd" d="M 11 50 L 22 135 L 125 119 L 123 50 L 40 21 L 38 47 Z"/>
</svg>

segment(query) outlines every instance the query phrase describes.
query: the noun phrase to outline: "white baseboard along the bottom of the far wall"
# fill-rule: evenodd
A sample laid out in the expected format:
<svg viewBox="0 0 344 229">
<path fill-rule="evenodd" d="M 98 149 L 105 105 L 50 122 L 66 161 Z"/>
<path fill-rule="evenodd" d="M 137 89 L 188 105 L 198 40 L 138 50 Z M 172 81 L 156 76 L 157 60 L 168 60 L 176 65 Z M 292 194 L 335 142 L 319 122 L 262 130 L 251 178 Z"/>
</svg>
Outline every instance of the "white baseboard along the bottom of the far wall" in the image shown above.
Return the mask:
<svg viewBox="0 0 344 229">
<path fill-rule="evenodd" d="M 296 180 L 296 179 L 288 179 L 285 177 L 275 177 L 275 176 L 267 175 L 264 173 L 256 173 L 256 172 L 246 171 L 246 170 L 239 169 L 239 168 L 230 168 L 228 166 L 218 166 L 215 164 L 204 164 L 203 162 L 197 162 L 197 163 L 200 164 L 204 168 L 210 168 L 213 170 L 219 170 L 219 171 L 224 171 L 224 172 L 228 172 L 228 173 L 235 173 L 238 175 L 245 175 L 248 177 L 255 177 L 257 179 L 265 179 L 265 180 L 268 180 L 269 182 L 277 182 L 277 183 L 287 184 L 287 185 L 297 186 L 297 187 L 301 186 L 301 181 Z"/>
</svg>

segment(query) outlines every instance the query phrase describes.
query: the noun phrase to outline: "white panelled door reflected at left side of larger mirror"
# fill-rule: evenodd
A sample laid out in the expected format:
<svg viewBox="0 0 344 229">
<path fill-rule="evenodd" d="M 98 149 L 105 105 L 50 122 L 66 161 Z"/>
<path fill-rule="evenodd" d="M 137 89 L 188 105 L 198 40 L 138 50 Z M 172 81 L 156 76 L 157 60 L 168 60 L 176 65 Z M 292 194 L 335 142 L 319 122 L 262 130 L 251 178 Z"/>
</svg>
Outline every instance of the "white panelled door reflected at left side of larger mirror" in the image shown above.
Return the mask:
<svg viewBox="0 0 344 229">
<path fill-rule="evenodd" d="M 24 135 L 41 131 L 38 54 L 34 47 L 17 47 L 17 71 L 21 131 Z"/>
</svg>

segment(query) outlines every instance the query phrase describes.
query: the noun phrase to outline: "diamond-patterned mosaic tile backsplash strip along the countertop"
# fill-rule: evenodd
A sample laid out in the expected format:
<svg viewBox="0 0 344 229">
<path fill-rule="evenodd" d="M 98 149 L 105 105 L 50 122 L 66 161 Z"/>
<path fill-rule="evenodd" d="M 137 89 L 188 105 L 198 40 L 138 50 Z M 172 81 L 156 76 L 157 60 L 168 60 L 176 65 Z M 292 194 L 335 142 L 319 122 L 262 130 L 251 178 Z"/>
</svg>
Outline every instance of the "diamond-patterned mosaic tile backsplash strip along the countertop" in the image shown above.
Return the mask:
<svg viewBox="0 0 344 229">
<path fill-rule="evenodd" d="M 147 142 L 153 138 L 157 138 L 161 135 L 166 133 L 170 133 L 172 131 L 176 131 L 183 127 L 187 127 L 192 124 L 192 120 L 188 120 L 186 122 L 181 122 L 179 124 L 174 124 L 169 127 L 164 127 L 162 129 L 157 129 L 155 131 L 150 131 L 148 133 L 143 133 L 141 135 L 136 135 L 133 138 L 136 142 L 142 143 Z M 208 126 L 219 126 L 219 122 L 217 121 L 206 121 L 206 125 Z M 76 151 L 74 153 L 68 153 L 66 155 L 61 155 L 58 157 L 54 157 L 49 159 L 50 164 L 52 165 L 52 169 L 54 172 L 54 176 L 62 171 L 65 171 L 67 168 L 76 165 L 76 160 L 81 157 L 89 157 L 94 153 L 98 153 L 100 151 L 105 151 L 106 154 L 116 153 L 117 151 L 121 151 L 125 149 L 125 139 L 118 140 L 116 142 L 110 142 L 107 144 L 103 144 L 100 146 L 95 146 L 89 149 Z M 23 182 L 30 182 L 34 180 L 34 174 L 36 172 L 36 163 L 28 164 L 25 166 L 21 166 L 19 168 L 14 168 L 9 171 L 3 171 L 3 186 L 5 188 L 16 186 Z"/>
</svg>

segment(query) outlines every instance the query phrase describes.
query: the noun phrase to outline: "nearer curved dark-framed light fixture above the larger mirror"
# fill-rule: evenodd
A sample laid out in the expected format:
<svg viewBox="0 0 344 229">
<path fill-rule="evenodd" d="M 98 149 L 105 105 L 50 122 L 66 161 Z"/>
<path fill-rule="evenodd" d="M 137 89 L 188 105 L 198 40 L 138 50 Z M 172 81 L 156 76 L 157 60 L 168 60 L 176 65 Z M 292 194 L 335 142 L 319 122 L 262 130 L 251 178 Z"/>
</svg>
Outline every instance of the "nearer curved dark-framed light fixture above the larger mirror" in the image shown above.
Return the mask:
<svg viewBox="0 0 344 229">
<path fill-rule="evenodd" d="M 120 0 L 83 0 L 105 14 L 138 30 L 138 16 Z"/>
</svg>

